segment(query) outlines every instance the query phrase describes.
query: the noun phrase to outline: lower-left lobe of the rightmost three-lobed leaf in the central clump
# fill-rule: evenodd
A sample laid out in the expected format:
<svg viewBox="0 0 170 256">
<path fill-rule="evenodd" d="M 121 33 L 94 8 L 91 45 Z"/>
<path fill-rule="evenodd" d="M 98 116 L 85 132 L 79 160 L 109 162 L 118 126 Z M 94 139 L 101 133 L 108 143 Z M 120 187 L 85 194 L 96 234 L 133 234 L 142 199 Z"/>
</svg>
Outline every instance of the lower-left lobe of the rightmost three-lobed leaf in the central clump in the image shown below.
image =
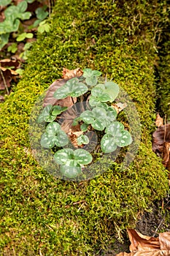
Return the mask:
<svg viewBox="0 0 170 256">
<path fill-rule="evenodd" d="M 101 139 L 101 150 L 104 153 L 111 153 L 115 151 L 117 145 L 115 144 L 115 138 L 112 135 L 105 134 Z"/>
</svg>

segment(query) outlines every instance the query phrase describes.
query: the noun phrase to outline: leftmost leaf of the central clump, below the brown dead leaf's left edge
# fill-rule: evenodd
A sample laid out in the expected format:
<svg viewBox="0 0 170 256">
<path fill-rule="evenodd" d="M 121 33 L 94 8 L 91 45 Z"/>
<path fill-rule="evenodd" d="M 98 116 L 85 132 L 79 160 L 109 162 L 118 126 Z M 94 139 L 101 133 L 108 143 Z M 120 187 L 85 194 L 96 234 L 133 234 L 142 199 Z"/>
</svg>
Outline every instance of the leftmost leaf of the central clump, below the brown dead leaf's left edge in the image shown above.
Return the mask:
<svg viewBox="0 0 170 256">
<path fill-rule="evenodd" d="M 56 106 L 47 105 L 45 108 L 43 108 L 42 112 L 39 114 L 39 117 L 37 118 L 37 123 L 42 123 L 43 121 L 50 123 L 54 121 L 55 118 L 66 109 L 67 107 L 61 107 L 58 105 Z"/>
</svg>

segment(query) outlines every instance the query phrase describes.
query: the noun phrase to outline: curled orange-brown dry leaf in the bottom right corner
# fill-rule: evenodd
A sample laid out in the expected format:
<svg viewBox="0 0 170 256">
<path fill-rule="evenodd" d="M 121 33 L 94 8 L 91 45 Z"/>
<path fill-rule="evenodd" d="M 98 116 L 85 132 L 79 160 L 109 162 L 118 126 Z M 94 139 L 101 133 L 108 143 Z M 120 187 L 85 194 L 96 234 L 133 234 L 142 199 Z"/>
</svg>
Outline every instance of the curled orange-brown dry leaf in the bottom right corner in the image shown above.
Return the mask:
<svg viewBox="0 0 170 256">
<path fill-rule="evenodd" d="M 158 238 L 143 236 L 136 230 L 129 229 L 131 241 L 130 253 L 120 252 L 117 256 L 169 256 L 170 232 L 160 233 Z"/>
</svg>

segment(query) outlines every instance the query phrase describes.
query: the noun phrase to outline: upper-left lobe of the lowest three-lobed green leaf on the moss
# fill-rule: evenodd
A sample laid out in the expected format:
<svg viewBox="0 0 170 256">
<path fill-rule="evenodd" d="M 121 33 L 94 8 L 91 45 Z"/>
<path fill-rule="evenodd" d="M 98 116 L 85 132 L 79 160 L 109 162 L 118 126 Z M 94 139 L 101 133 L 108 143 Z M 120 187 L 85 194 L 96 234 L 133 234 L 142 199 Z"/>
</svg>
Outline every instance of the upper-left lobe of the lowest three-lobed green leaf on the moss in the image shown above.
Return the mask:
<svg viewBox="0 0 170 256">
<path fill-rule="evenodd" d="M 63 148 L 61 150 L 58 150 L 54 154 L 55 162 L 58 163 L 58 165 L 65 165 L 66 162 L 68 162 L 71 159 L 74 159 L 74 151 L 72 148 Z"/>
</svg>

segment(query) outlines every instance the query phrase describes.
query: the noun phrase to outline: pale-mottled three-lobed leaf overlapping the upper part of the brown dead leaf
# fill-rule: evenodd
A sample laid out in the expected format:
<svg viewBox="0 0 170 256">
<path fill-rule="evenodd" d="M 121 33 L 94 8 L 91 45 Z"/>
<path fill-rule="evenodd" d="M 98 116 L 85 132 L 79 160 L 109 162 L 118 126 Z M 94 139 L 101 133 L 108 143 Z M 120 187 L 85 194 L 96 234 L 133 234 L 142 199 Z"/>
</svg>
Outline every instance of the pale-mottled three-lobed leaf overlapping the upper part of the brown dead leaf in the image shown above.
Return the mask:
<svg viewBox="0 0 170 256">
<path fill-rule="evenodd" d="M 79 81 L 78 78 L 69 79 L 63 86 L 58 88 L 53 97 L 56 99 L 64 99 L 68 96 L 79 97 L 88 91 L 88 86 Z"/>
</svg>

